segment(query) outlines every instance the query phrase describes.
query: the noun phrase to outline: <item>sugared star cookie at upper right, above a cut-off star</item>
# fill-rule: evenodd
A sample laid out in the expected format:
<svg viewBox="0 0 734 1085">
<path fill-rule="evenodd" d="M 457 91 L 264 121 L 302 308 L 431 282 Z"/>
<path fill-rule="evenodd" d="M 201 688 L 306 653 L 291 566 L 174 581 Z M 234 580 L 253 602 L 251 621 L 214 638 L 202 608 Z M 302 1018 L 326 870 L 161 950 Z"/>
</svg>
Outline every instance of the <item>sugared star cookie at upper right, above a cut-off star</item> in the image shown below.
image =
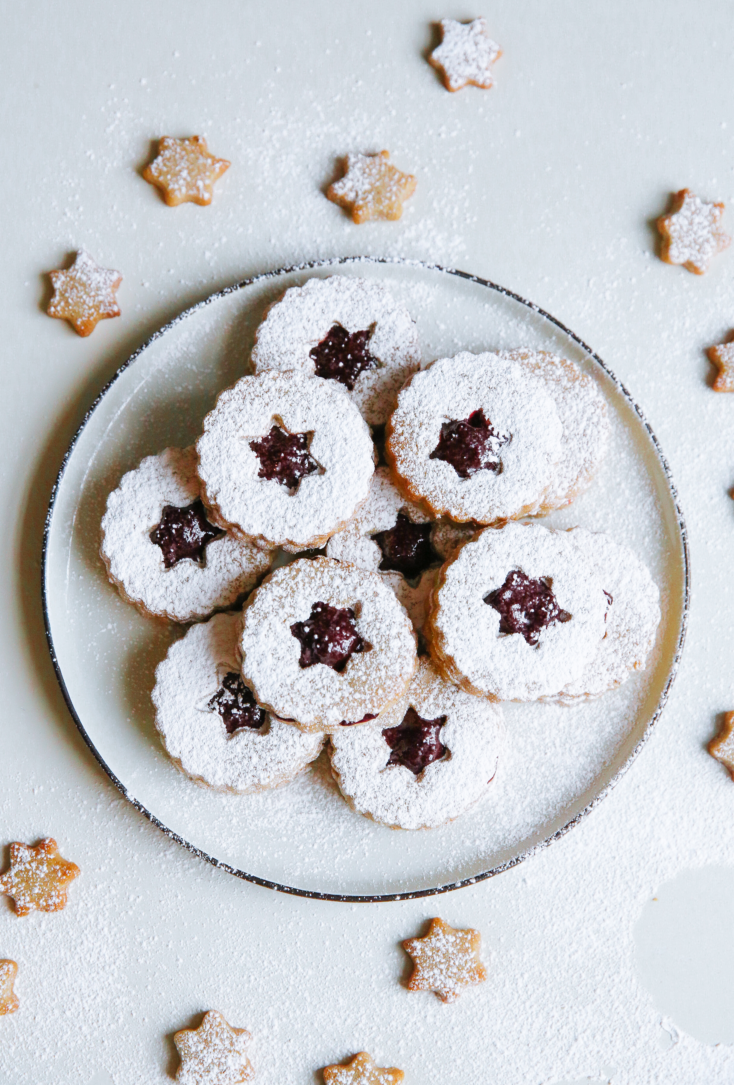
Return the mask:
<svg viewBox="0 0 734 1085">
<path fill-rule="evenodd" d="M 720 222 L 723 213 L 723 204 L 704 203 L 691 189 L 681 189 L 673 196 L 670 212 L 657 220 L 662 237 L 660 259 L 703 275 L 711 257 L 731 243 Z"/>
</svg>

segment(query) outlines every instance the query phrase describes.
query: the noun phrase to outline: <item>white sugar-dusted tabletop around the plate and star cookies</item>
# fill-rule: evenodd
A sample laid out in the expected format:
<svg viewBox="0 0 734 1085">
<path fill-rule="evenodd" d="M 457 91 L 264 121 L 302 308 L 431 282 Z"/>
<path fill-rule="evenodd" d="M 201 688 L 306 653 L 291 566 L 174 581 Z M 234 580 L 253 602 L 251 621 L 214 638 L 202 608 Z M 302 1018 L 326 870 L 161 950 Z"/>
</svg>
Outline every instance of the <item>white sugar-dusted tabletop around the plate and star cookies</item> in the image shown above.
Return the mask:
<svg viewBox="0 0 734 1085">
<path fill-rule="evenodd" d="M 734 1078 L 734 784 L 705 749 L 734 707 L 734 396 L 711 392 L 704 354 L 734 324 L 734 252 L 698 278 L 657 258 L 651 225 L 683 186 L 734 200 L 731 16 L 494 2 L 497 87 L 450 94 L 424 59 L 430 22 L 479 13 L 0 8 L 0 844 L 51 834 L 82 869 L 63 912 L 0 904 L 21 998 L 0 1019 L 2 1083 L 169 1081 L 171 1034 L 208 1008 L 253 1033 L 262 1082 L 316 1082 L 361 1049 L 407 1085 Z M 232 167 L 210 207 L 168 208 L 139 170 L 156 137 L 194 132 Z M 357 227 L 323 189 L 337 157 L 383 146 L 417 190 L 399 222 Z M 43 315 L 46 272 L 81 245 L 125 277 L 121 319 L 88 340 Z M 138 815 L 66 712 L 39 588 L 63 451 L 132 349 L 219 286 L 352 253 L 461 267 L 590 343 L 669 458 L 693 565 L 671 699 L 611 795 L 489 882 L 358 906 L 237 881 Z M 489 982 L 451 1006 L 400 983 L 399 943 L 434 915 L 484 937 Z"/>
</svg>

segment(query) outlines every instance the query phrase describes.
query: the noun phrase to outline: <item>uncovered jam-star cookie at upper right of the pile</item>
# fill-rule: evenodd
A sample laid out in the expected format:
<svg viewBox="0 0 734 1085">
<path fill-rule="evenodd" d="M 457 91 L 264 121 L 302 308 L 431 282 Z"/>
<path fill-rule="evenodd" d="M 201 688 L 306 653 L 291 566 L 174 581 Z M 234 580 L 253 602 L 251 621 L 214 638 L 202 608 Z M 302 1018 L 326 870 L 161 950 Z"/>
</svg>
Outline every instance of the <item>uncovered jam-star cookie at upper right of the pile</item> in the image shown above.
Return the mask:
<svg viewBox="0 0 734 1085">
<path fill-rule="evenodd" d="M 463 352 L 402 388 L 385 455 L 401 488 L 434 516 L 490 524 L 538 505 L 562 437 L 541 381 L 494 354 Z"/>
</svg>

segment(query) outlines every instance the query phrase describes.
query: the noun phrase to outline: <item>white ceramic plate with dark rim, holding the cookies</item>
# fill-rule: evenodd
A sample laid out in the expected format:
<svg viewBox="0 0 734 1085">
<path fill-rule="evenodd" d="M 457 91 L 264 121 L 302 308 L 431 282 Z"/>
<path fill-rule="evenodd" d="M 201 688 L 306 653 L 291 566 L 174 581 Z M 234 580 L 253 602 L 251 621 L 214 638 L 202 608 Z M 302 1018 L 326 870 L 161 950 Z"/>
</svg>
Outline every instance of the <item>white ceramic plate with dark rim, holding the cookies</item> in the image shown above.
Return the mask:
<svg viewBox="0 0 734 1085">
<path fill-rule="evenodd" d="M 189 445 L 217 393 L 247 370 L 265 308 L 310 276 L 383 281 L 417 321 L 426 359 L 459 350 L 544 348 L 577 361 L 606 397 L 613 438 L 591 489 L 549 521 L 632 546 L 662 596 L 647 668 L 574 709 L 507 705 L 508 749 L 488 800 L 442 829 L 403 832 L 355 814 L 325 755 L 293 783 L 245 797 L 186 779 L 168 760 L 150 700 L 156 664 L 185 631 L 144 618 L 99 557 L 106 496 L 166 445 Z M 207 298 L 157 332 L 92 405 L 49 508 L 43 599 L 69 711 L 98 761 L 146 817 L 250 881 L 330 899 L 397 899 L 468 884 L 565 832 L 614 786 L 660 714 L 683 646 L 685 526 L 670 472 L 640 409 L 601 359 L 548 314 L 492 283 L 413 263 L 342 260 L 274 271 Z"/>
</svg>

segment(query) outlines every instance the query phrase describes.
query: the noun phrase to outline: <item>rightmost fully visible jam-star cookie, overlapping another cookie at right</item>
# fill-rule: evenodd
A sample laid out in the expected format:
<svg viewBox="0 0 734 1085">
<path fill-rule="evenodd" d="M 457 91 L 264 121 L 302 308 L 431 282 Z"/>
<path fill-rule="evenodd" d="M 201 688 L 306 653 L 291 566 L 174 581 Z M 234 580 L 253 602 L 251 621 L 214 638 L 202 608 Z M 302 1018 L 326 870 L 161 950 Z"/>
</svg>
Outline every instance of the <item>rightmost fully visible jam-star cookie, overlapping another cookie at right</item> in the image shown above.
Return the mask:
<svg viewBox="0 0 734 1085">
<path fill-rule="evenodd" d="M 426 638 L 472 693 L 535 701 L 580 678 L 606 631 L 604 585 L 568 532 L 487 528 L 441 567 Z"/>
</svg>

